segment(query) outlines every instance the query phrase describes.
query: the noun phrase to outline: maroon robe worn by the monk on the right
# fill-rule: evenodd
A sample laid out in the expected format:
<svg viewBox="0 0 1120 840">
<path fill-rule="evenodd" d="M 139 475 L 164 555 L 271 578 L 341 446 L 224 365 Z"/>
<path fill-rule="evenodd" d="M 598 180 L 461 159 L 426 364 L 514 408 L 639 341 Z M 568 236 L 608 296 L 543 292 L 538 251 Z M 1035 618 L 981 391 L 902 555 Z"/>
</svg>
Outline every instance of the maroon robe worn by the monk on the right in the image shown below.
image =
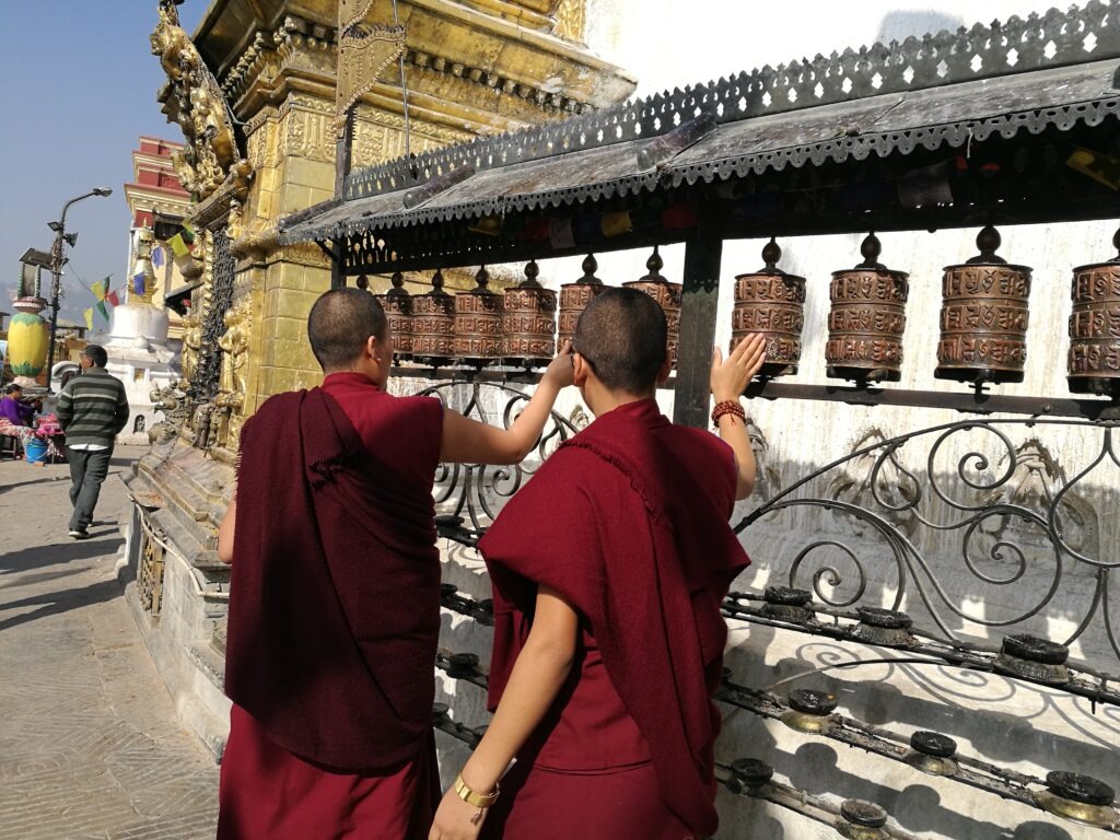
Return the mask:
<svg viewBox="0 0 1120 840">
<path fill-rule="evenodd" d="M 728 525 L 735 488 L 727 445 L 644 400 L 563 445 L 498 516 L 479 543 L 494 584 L 491 707 L 538 586 L 567 598 L 582 629 L 573 678 L 519 755 L 485 836 L 715 832 L 719 607 L 749 562 Z"/>
</svg>

